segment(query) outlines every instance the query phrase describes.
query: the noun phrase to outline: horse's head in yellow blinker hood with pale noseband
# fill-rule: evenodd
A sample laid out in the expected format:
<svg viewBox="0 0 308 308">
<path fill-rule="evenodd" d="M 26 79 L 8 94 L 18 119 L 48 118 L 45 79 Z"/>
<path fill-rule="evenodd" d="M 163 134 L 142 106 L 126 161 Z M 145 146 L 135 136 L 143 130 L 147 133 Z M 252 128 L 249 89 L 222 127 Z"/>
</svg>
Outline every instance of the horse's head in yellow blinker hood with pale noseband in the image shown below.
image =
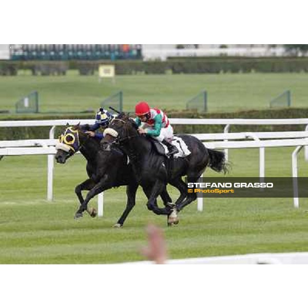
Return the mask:
<svg viewBox="0 0 308 308">
<path fill-rule="evenodd" d="M 81 136 L 82 135 L 82 136 Z M 79 151 L 83 144 L 83 134 L 80 131 L 79 124 L 75 126 L 68 126 L 59 136 L 59 142 L 56 144 L 55 160 L 57 163 L 64 164 L 66 160 Z"/>
</svg>

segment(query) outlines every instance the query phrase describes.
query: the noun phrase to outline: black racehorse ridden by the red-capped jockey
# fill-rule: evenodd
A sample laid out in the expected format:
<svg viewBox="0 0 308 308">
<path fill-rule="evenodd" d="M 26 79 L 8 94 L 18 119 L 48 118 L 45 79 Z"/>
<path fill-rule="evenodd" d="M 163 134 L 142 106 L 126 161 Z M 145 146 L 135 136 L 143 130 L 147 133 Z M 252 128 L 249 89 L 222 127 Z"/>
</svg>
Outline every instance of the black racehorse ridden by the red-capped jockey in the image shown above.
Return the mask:
<svg viewBox="0 0 308 308">
<path fill-rule="evenodd" d="M 148 209 L 158 215 L 172 213 L 169 222 L 177 219 L 177 212 L 184 206 L 197 199 L 195 192 L 188 193 L 187 184 L 182 180 L 183 176 L 197 180 L 207 166 L 218 172 L 227 170 L 223 152 L 207 149 L 199 139 L 193 136 L 187 134 L 177 136 L 183 139 L 191 153 L 184 158 L 168 159 L 158 153 L 151 138 L 138 132 L 138 126 L 128 114 L 120 113 L 111 122 L 101 141 L 106 150 L 119 148 L 127 154 L 137 182 L 148 198 Z M 157 208 L 156 199 L 166 189 L 167 183 L 180 191 L 176 209 Z"/>
</svg>

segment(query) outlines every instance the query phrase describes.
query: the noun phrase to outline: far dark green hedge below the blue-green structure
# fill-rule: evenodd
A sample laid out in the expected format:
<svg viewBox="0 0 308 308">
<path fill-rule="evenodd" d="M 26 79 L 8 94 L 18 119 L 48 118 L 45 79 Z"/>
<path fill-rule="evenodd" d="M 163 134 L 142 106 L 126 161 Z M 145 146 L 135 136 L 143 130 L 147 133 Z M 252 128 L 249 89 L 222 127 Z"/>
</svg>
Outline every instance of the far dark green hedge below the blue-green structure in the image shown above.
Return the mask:
<svg viewBox="0 0 308 308">
<path fill-rule="evenodd" d="M 65 74 L 78 69 L 90 75 L 100 64 L 114 64 L 115 73 L 174 74 L 188 73 L 249 73 L 249 72 L 308 72 L 308 57 L 189 57 L 169 58 L 167 61 L 0 61 L 0 74 L 14 75 L 18 69 L 30 69 L 33 75 Z"/>
</svg>

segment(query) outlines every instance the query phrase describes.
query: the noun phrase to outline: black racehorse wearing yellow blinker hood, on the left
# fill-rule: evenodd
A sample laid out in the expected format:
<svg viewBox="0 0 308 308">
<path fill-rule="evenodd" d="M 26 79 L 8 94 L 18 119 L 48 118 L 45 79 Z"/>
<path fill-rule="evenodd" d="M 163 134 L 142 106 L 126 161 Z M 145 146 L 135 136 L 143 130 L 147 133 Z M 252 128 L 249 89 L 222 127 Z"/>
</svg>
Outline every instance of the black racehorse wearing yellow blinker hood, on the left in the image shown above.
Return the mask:
<svg viewBox="0 0 308 308">
<path fill-rule="evenodd" d="M 88 210 L 89 201 L 104 190 L 126 185 L 126 208 L 114 225 L 115 227 L 123 226 L 125 219 L 136 203 L 136 191 L 139 186 L 134 177 L 132 165 L 128 164 L 127 156 L 119 149 L 101 150 L 100 142 L 89 137 L 84 130 L 86 130 L 85 126 L 66 127 L 56 145 L 55 159 L 58 163 L 64 164 L 77 151 L 80 151 L 87 160 L 86 168 L 89 178 L 75 187 L 76 195 L 81 204 L 75 213 L 75 218 L 81 218 L 84 211 L 88 211 L 92 217 L 95 217 L 97 211 L 93 208 Z M 83 190 L 89 190 L 85 199 L 82 196 Z M 172 206 L 171 198 L 166 190 L 162 191 L 161 198 L 165 206 Z"/>
</svg>

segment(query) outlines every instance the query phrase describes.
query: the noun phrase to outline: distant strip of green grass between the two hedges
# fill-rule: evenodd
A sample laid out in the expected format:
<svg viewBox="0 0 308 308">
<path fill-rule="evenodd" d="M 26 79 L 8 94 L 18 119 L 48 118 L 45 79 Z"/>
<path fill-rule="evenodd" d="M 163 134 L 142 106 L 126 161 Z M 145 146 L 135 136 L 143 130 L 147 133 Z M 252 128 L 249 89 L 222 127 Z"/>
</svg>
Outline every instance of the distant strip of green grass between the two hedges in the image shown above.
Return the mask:
<svg viewBox="0 0 308 308">
<path fill-rule="evenodd" d="M 40 111 L 82 111 L 98 109 L 109 95 L 122 90 L 124 109 L 146 100 L 165 109 L 185 109 L 186 102 L 201 90 L 208 91 L 209 111 L 266 109 L 285 90 L 292 92 L 292 106 L 306 107 L 308 74 L 179 74 L 120 75 L 98 82 L 98 76 L 0 76 L 0 109 L 14 112 L 15 102 L 33 90 L 39 92 Z"/>
</svg>

